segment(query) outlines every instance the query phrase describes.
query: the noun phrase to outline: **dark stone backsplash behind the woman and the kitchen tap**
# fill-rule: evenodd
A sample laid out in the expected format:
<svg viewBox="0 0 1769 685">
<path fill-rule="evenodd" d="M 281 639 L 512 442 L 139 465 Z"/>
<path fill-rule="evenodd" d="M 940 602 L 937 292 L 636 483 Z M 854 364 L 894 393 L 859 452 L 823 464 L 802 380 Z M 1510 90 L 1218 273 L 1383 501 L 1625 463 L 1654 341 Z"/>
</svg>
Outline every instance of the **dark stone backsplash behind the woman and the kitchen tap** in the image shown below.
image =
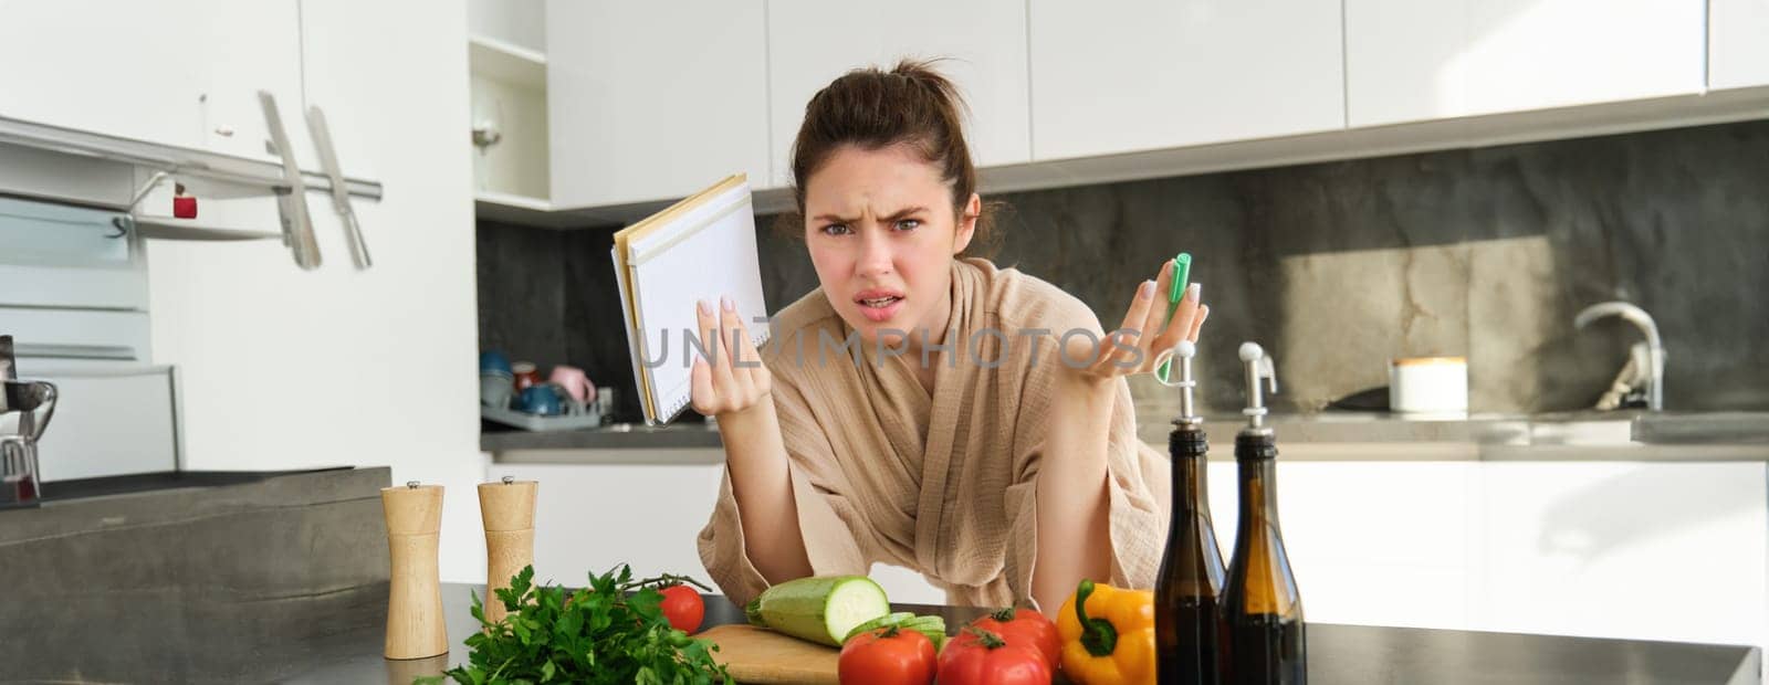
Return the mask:
<svg viewBox="0 0 1769 685">
<path fill-rule="evenodd" d="M 1136 284 L 1189 251 L 1210 323 L 1210 413 L 1242 404 L 1235 350 L 1277 360 L 1279 410 L 1387 385 L 1394 357 L 1465 355 L 1470 410 L 1590 406 L 1638 334 L 1574 330 L 1629 300 L 1659 325 L 1670 410 L 1769 408 L 1769 120 L 1210 173 L 994 196 L 994 261 L 1114 325 Z M 816 288 L 796 240 L 759 217 L 768 305 Z M 481 224 L 479 342 L 582 365 L 626 388 L 612 228 Z M 1145 420 L 1171 413 L 1136 383 Z"/>
</svg>

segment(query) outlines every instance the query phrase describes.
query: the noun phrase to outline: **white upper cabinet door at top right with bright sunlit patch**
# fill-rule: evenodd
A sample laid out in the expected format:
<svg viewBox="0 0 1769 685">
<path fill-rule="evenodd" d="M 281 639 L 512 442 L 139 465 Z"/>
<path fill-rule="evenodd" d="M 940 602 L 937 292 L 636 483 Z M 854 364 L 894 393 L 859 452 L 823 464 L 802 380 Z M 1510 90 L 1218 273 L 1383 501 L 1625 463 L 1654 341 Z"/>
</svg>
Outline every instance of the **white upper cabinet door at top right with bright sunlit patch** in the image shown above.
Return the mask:
<svg viewBox="0 0 1769 685">
<path fill-rule="evenodd" d="M 1695 0 L 1344 0 L 1350 124 L 1695 94 Z"/>
</svg>

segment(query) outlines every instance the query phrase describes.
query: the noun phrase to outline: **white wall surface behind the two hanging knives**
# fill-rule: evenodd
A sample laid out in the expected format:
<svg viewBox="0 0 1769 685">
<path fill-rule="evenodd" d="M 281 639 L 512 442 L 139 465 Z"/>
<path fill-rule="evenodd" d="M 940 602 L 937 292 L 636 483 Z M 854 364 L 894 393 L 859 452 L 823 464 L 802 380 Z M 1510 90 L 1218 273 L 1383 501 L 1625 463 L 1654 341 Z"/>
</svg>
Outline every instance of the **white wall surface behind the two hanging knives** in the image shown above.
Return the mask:
<svg viewBox="0 0 1769 685">
<path fill-rule="evenodd" d="M 317 272 L 269 240 L 149 247 L 154 357 L 182 373 L 186 468 L 384 464 L 393 482 L 442 484 L 442 579 L 478 581 L 465 0 L 304 0 L 302 26 L 308 102 L 325 108 L 345 168 L 386 185 L 356 205 L 375 267 L 350 267 L 320 194 Z M 297 104 L 281 106 L 290 127 L 304 127 Z M 267 199 L 241 214 L 276 228 Z"/>
</svg>

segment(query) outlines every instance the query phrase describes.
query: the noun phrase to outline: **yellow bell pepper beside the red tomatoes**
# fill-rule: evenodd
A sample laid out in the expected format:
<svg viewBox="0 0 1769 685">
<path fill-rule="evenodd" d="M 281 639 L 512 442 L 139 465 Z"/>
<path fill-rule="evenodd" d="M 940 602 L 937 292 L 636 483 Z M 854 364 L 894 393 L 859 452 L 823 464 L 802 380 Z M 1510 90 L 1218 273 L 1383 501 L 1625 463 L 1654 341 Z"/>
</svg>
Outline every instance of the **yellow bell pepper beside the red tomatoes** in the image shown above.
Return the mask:
<svg viewBox="0 0 1769 685">
<path fill-rule="evenodd" d="M 1088 614 L 1093 616 L 1088 616 Z M 1155 685 L 1155 593 L 1083 579 L 1056 614 L 1063 674 L 1081 685 Z"/>
</svg>

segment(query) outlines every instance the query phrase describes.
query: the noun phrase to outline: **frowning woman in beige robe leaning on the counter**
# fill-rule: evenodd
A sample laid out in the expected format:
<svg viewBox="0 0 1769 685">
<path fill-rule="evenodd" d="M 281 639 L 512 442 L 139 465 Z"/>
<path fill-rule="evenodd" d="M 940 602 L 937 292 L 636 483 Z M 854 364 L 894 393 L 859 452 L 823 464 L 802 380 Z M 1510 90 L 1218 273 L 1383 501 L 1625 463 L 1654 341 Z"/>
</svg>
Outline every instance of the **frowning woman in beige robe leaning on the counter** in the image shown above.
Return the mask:
<svg viewBox="0 0 1769 685">
<path fill-rule="evenodd" d="M 693 367 L 727 464 L 701 560 L 739 604 L 874 561 L 950 604 L 1045 613 L 1083 577 L 1155 581 L 1168 459 L 1137 440 L 1125 376 L 1196 339 L 1208 311 L 1194 284 L 1164 321 L 1160 265 L 1102 339 L 1074 297 L 962 258 L 989 217 L 959 108 L 952 83 L 904 62 L 849 72 L 805 109 L 793 180 L 821 288 L 775 316 L 766 355 L 720 346 Z M 748 341 L 718 309 L 701 302 L 701 328 Z"/>
</svg>

